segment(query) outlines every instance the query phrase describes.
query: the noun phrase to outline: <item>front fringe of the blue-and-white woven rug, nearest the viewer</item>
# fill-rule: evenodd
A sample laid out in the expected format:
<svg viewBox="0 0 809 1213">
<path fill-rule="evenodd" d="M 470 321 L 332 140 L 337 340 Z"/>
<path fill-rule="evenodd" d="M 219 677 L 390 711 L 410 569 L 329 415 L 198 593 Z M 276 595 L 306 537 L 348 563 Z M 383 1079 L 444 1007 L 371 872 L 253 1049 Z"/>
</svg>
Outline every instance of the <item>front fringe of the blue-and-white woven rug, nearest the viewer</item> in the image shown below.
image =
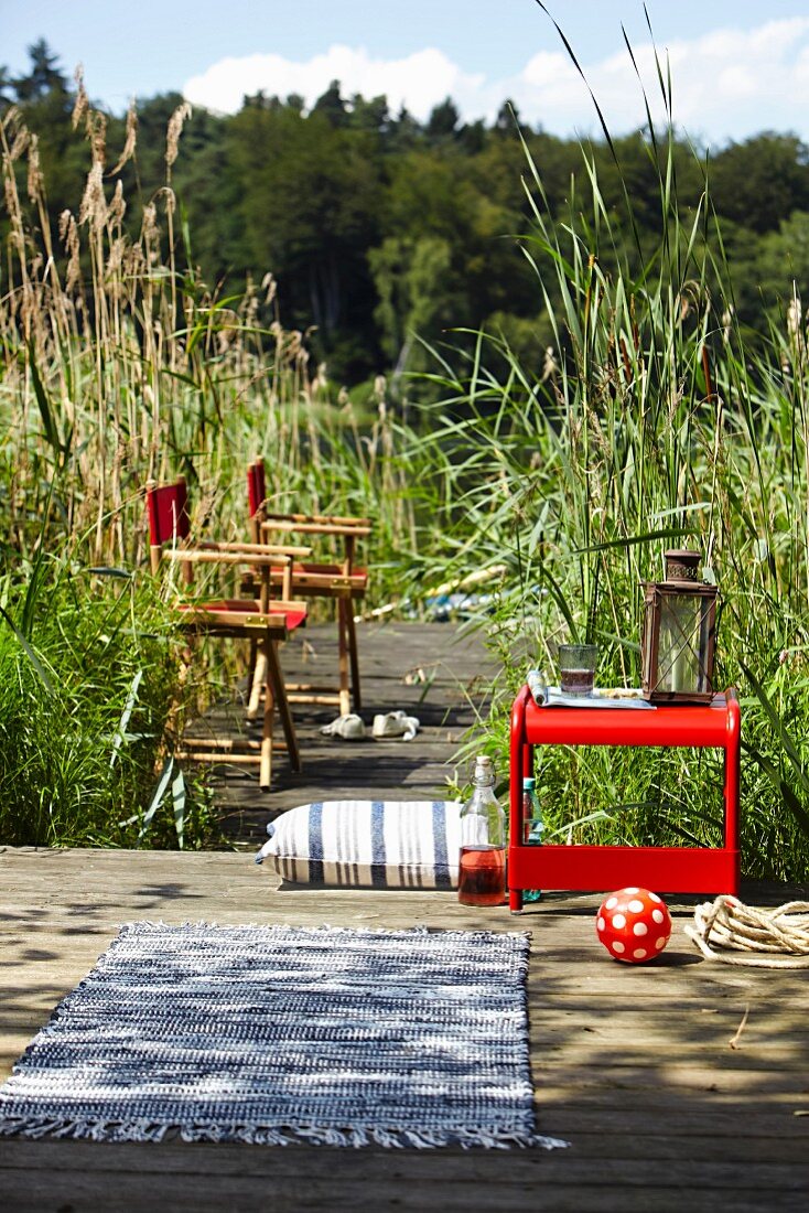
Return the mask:
<svg viewBox="0 0 809 1213">
<path fill-rule="evenodd" d="M 139 1141 L 156 1144 L 177 1132 L 183 1141 L 233 1143 L 246 1145 L 327 1145 L 363 1149 L 381 1145 L 395 1150 L 437 1150 L 461 1146 L 463 1150 L 508 1150 L 541 1147 L 557 1150 L 569 1146 L 562 1138 L 539 1133 L 496 1133 L 490 1129 L 458 1128 L 446 1132 L 382 1129 L 359 1127 L 337 1129 L 332 1124 L 262 1126 L 230 1124 L 155 1124 L 153 1121 L 56 1120 L 46 1116 L 0 1116 L 0 1137 L 40 1139 L 72 1138 L 90 1141 Z"/>
</svg>

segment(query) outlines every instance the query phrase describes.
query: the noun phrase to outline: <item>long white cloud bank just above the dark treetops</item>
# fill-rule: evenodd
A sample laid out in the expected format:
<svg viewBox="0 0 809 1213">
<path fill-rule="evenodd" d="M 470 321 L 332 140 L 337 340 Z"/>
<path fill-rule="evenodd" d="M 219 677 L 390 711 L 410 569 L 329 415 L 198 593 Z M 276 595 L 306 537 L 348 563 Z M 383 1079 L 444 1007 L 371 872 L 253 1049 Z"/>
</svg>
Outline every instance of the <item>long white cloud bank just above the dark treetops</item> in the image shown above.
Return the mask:
<svg viewBox="0 0 809 1213">
<path fill-rule="evenodd" d="M 809 102 L 809 18 L 770 21 L 754 29 L 714 29 L 657 49 L 663 73 L 673 80 L 674 120 L 695 137 L 722 142 L 763 129 L 797 130 L 809 137 L 803 107 Z M 653 114 L 663 116 L 655 51 L 633 46 Z M 587 81 L 614 133 L 645 120 L 640 85 L 626 50 L 582 64 Z M 501 80 L 465 73 L 434 47 L 399 59 L 372 58 L 360 47 L 331 46 L 324 55 L 294 62 L 278 55 L 226 58 L 184 87 L 189 101 L 233 113 L 245 93 L 263 90 L 286 97 L 301 93 L 312 104 L 332 80 L 343 96 L 386 93 L 393 112 L 401 104 L 418 119 L 451 96 L 462 115 L 491 121 L 513 99 L 524 120 L 560 135 L 598 132 L 593 104 L 564 51 L 534 55 L 515 76 Z"/>
</svg>

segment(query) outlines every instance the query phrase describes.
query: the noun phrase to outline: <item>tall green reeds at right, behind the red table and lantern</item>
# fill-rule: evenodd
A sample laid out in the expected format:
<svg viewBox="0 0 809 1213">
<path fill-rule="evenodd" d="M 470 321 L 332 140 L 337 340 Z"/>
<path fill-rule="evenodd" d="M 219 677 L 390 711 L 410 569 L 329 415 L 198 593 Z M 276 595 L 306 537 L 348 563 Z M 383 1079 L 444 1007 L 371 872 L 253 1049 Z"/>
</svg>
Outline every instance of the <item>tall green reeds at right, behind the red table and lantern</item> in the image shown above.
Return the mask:
<svg viewBox="0 0 809 1213">
<path fill-rule="evenodd" d="M 722 591 L 718 682 L 744 704 L 744 865 L 801 879 L 809 864 L 807 600 L 809 365 L 801 301 L 753 355 L 711 206 L 678 194 L 670 118 L 649 113 L 659 238 L 645 247 L 628 183 L 619 212 L 581 148 L 568 211 L 548 204 L 525 147 L 520 239 L 554 341 L 526 366 L 497 334 L 437 352 L 434 466 L 445 552 L 492 570 L 490 643 L 502 662 L 488 745 L 507 769 L 508 702 L 556 645 L 602 647 L 602 685 L 639 683 L 643 580 L 666 547 L 699 547 Z M 613 143 L 604 126 L 604 137 Z M 615 169 L 621 165 L 615 155 Z M 757 348 L 762 348 L 760 340 Z M 448 451 L 451 451 L 449 460 Z M 438 475 L 438 471 L 437 471 Z M 479 745 L 475 738 L 472 745 Z M 706 842 L 720 828 L 711 753 L 554 751 L 539 770 L 549 830 L 572 841 Z"/>
</svg>

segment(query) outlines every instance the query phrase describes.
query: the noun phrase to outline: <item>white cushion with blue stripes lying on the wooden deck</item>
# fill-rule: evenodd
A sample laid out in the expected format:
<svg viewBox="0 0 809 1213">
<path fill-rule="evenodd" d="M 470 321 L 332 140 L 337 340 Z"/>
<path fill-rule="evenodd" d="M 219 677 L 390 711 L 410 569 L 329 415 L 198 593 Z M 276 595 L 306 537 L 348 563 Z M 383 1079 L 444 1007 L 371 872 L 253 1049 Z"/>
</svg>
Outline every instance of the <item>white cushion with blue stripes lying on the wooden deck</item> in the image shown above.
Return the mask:
<svg viewBox="0 0 809 1213">
<path fill-rule="evenodd" d="M 451 889 L 460 811 L 457 801 L 315 801 L 267 826 L 256 862 L 298 883 Z"/>
</svg>

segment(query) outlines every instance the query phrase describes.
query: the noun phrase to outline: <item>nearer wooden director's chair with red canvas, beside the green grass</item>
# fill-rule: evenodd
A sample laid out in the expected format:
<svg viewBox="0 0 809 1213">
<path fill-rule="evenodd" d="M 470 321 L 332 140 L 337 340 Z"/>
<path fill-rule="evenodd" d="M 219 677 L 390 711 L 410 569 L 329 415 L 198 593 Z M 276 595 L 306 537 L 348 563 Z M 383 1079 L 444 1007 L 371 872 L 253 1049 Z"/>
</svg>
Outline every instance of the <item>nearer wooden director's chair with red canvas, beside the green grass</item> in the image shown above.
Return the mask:
<svg viewBox="0 0 809 1213">
<path fill-rule="evenodd" d="M 278 656 L 278 647 L 306 620 L 307 606 L 292 599 L 292 562 L 309 554 L 309 548 L 283 545 L 237 542 L 189 542 L 190 519 L 188 490 L 183 478 L 173 484 L 150 482 L 146 489 L 149 517 L 149 558 L 154 574 L 164 560 L 181 565 L 183 580 L 194 583 L 199 564 L 224 566 L 250 565 L 257 573 L 258 593 L 251 599 L 220 599 L 215 602 L 181 603 L 183 631 L 192 636 L 217 636 L 250 642 L 251 664 L 249 687 L 252 687 L 256 654 L 262 659 L 263 721 L 261 741 L 211 741 L 206 738 L 186 738 L 177 757 L 194 762 L 258 763 L 258 782 L 269 791 L 274 747 L 273 723 L 275 712 L 281 722 L 290 765 L 301 770 L 301 753 L 290 710 L 286 684 Z M 281 598 L 270 597 L 270 570 L 280 570 Z"/>
</svg>

